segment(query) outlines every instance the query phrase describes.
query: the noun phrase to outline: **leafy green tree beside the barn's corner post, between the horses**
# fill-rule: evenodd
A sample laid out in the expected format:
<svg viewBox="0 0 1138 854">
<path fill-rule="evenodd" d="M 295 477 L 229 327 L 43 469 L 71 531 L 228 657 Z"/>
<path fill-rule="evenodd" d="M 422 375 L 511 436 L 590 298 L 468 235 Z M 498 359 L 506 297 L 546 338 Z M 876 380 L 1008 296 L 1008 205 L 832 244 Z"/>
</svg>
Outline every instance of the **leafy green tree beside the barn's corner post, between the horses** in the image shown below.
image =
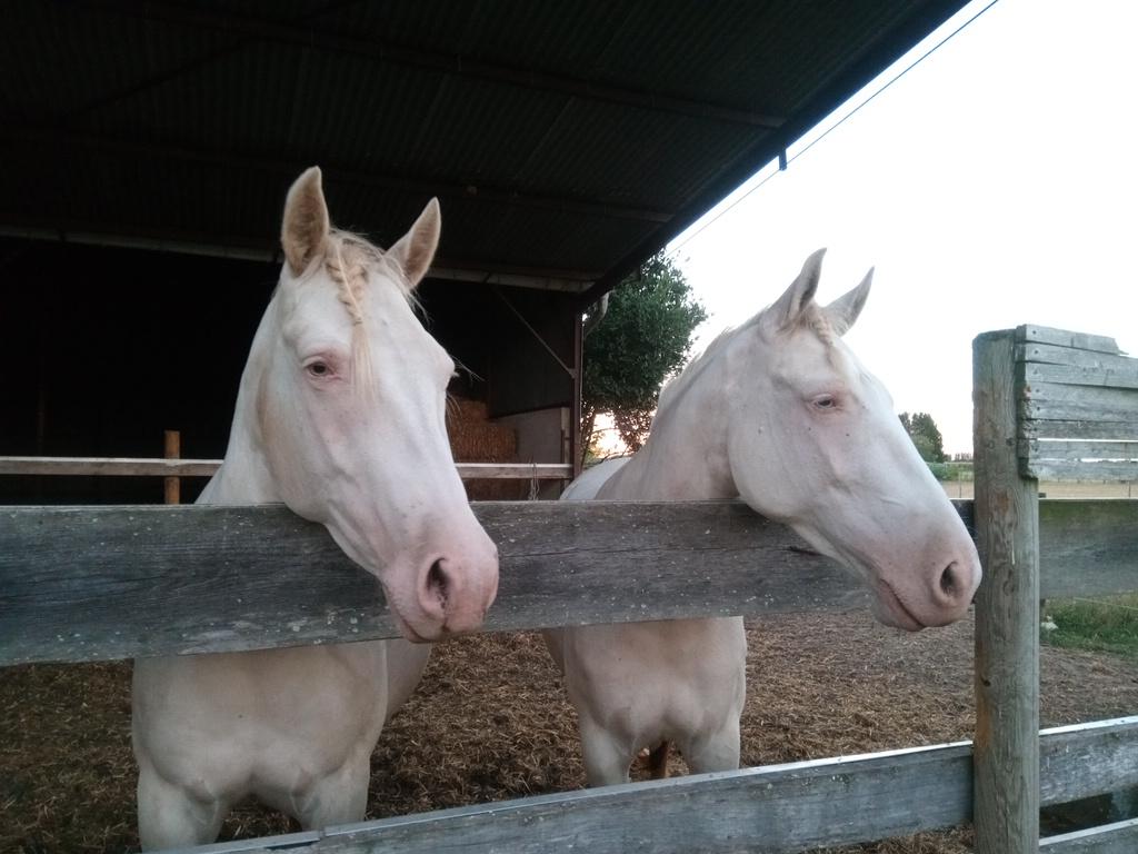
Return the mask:
<svg viewBox="0 0 1138 854">
<path fill-rule="evenodd" d="M 596 416 L 611 412 L 621 441 L 640 450 L 663 380 L 687 361 L 695 327 L 707 319 L 683 272 L 662 253 L 585 315 L 585 453 Z"/>
</svg>

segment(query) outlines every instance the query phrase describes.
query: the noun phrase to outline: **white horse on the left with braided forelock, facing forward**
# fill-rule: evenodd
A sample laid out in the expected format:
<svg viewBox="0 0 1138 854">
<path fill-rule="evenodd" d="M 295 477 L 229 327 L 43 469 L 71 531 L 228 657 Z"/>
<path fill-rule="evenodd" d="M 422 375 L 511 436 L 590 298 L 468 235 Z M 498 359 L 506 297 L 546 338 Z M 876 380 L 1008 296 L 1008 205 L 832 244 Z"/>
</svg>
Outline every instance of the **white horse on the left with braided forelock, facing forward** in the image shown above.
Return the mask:
<svg viewBox="0 0 1138 854">
<path fill-rule="evenodd" d="M 330 229 L 320 170 L 297 179 L 287 263 L 199 499 L 283 502 L 323 524 L 415 641 L 477 627 L 497 590 L 497 550 L 447 443 L 454 364 L 411 305 L 438 235 L 432 199 L 381 252 Z M 135 662 L 142 846 L 212 841 L 250 794 L 306 828 L 362 820 L 376 740 L 429 650 L 394 640 Z"/>
</svg>

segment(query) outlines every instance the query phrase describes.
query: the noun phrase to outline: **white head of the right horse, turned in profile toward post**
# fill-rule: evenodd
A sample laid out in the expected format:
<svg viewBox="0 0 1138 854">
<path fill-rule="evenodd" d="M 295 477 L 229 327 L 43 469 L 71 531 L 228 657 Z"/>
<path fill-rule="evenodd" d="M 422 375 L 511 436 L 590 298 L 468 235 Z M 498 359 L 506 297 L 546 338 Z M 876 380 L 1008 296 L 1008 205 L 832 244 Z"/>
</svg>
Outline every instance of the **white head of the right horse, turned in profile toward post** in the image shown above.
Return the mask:
<svg viewBox="0 0 1138 854">
<path fill-rule="evenodd" d="M 980 559 L 889 392 L 841 338 L 873 271 L 822 306 L 822 256 L 734 336 L 731 475 L 752 508 L 861 575 L 881 622 L 945 625 L 967 610 Z"/>
</svg>

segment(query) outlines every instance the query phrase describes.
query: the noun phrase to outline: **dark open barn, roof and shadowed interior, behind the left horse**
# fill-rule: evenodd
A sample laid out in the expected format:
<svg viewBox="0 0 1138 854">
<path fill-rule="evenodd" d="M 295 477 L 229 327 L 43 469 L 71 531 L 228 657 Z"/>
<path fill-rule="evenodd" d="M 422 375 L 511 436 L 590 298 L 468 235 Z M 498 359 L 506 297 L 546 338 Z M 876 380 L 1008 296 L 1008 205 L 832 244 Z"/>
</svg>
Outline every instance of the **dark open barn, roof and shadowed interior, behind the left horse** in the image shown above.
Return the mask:
<svg viewBox="0 0 1138 854">
<path fill-rule="evenodd" d="M 0 457 L 158 457 L 168 428 L 220 457 L 319 164 L 380 245 L 442 203 L 421 296 L 477 404 L 456 454 L 574 460 L 582 310 L 962 6 L 8 5 Z M 0 502 L 155 479 L 6 476 Z"/>
</svg>

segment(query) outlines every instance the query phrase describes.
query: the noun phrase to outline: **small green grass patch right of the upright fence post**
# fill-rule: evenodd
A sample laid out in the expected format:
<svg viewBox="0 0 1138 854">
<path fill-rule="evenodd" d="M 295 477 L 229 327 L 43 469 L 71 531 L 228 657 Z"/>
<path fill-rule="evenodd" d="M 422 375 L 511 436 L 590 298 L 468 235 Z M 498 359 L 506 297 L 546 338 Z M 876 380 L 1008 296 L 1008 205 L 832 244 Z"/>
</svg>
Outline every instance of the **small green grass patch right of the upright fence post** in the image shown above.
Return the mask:
<svg viewBox="0 0 1138 854">
<path fill-rule="evenodd" d="M 1138 593 L 1094 600 L 1049 599 L 1045 614 L 1045 626 L 1055 625 L 1044 630 L 1045 643 L 1138 660 Z"/>
</svg>

